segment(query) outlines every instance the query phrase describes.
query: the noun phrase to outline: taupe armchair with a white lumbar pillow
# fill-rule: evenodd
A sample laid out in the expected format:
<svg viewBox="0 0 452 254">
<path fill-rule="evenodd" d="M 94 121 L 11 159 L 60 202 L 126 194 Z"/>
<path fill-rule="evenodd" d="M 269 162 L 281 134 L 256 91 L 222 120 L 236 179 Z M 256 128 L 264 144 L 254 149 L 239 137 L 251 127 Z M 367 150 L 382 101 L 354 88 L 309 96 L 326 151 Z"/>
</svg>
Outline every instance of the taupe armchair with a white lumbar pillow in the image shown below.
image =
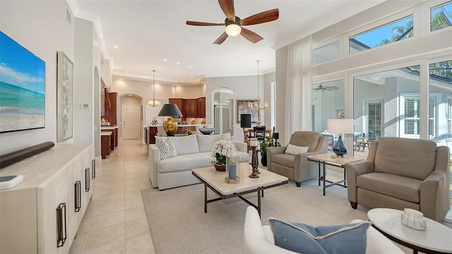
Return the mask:
<svg viewBox="0 0 452 254">
<path fill-rule="evenodd" d="M 295 181 L 297 187 L 299 187 L 302 181 L 317 177 L 318 168 L 316 164 L 308 161 L 308 156 L 326 153 L 328 138 L 314 131 L 295 131 L 290 137 L 289 144 L 309 147 L 308 152 L 288 155 L 285 153 L 287 145 L 267 147 L 267 169 Z"/>
</svg>

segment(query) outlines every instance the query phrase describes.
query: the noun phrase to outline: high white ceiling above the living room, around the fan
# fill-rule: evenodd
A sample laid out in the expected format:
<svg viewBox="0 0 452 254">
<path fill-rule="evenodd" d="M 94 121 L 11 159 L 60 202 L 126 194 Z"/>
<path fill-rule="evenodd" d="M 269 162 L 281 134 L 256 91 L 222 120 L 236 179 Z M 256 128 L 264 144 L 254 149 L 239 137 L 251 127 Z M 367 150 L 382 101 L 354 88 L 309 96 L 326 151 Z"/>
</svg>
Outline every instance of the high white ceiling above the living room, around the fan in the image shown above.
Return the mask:
<svg viewBox="0 0 452 254">
<path fill-rule="evenodd" d="M 275 71 L 275 50 L 385 0 L 237 0 L 235 14 L 246 18 L 279 8 L 278 20 L 246 26 L 263 40 L 242 36 L 213 42 L 222 26 L 191 26 L 186 20 L 224 23 L 215 0 L 69 0 L 78 18 L 92 20 L 102 54 L 122 78 L 194 84 L 205 77 L 256 75 Z M 115 47 L 116 46 L 116 47 Z"/>
</svg>

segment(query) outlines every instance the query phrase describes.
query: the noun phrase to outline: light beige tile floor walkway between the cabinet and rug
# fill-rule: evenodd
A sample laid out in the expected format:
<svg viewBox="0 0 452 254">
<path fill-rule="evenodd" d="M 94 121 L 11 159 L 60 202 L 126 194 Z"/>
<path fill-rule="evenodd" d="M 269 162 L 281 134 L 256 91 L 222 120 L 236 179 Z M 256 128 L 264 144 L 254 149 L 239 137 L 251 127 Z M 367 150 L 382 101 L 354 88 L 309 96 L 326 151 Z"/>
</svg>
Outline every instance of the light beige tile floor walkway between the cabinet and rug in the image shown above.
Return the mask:
<svg viewBox="0 0 452 254">
<path fill-rule="evenodd" d="M 155 253 L 141 199 L 150 188 L 142 140 L 119 140 L 97 162 L 95 191 L 70 253 Z"/>
</svg>

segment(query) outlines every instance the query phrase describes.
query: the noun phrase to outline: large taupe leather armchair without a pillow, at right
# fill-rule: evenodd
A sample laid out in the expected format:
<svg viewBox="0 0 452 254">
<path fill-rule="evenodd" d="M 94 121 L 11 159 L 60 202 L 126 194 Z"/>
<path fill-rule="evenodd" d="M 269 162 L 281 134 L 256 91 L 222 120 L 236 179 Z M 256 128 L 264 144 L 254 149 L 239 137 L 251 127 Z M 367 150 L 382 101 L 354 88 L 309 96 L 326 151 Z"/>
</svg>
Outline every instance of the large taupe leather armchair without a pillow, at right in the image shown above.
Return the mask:
<svg viewBox="0 0 452 254">
<path fill-rule="evenodd" d="M 412 208 L 441 221 L 449 197 L 449 148 L 430 140 L 380 138 L 367 159 L 345 164 L 350 205 Z"/>
</svg>

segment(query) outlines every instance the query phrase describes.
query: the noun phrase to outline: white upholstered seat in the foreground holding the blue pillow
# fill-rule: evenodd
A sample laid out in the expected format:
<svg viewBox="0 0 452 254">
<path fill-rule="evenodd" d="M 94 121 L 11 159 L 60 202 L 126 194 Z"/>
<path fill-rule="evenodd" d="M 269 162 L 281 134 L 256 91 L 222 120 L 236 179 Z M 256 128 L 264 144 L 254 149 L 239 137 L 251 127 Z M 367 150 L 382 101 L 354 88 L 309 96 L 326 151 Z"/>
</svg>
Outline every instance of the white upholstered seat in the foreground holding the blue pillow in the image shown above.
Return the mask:
<svg viewBox="0 0 452 254">
<path fill-rule="evenodd" d="M 362 222 L 359 219 L 355 219 L 350 223 Z M 404 253 L 400 248 L 396 246 L 391 240 L 383 236 L 379 231 L 376 231 L 373 227 L 369 226 L 367 229 L 367 247 L 366 254 L 369 253 L 381 253 L 381 254 L 396 254 Z M 261 224 L 261 218 L 254 207 L 249 206 L 246 209 L 244 232 L 243 232 L 243 250 L 246 254 L 290 254 L 295 253 L 291 250 L 286 250 L 279 246 L 275 246 L 273 240 L 273 233 L 268 225 Z"/>
</svg>

